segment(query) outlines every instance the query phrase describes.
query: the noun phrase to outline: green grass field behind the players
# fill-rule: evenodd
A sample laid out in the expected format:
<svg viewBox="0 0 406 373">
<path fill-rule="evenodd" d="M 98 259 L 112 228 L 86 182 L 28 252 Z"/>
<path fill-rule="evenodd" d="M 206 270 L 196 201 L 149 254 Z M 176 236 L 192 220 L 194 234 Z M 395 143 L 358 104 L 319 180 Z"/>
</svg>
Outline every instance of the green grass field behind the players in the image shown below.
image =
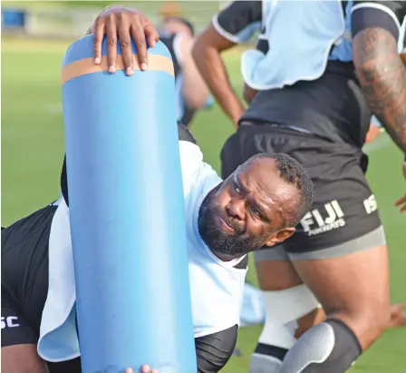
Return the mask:
<svg viewBox="0 0 406 373">
<path fill-rule="evenodd" d="M 67 44 L 3 41 L 2 44 L 2 225 L 23 217 L 59 194 L 63 161 L 60 66 Z M 241 88 L 239 55 L 227 66 Z M 219 151 L 233 127 L 218 108 L 199 113 L 192 125 L 207 162 L 219 170 Z M 401 154 L 384 136 L 370 147 L 368 179 L 381 208 L 391 256 L 391 299 L 406 301 L 406 215 L 393 207 L 405 189 Z M 256 283 L 254 270 L 250 282 Z M 247 373 L 260 327 L 241 329 L 243 356 L 232 358 L 225 373 Z M 352 369 L 354 373 L 406 373 L 406 329 L 389 330 Z"/>
</svg>

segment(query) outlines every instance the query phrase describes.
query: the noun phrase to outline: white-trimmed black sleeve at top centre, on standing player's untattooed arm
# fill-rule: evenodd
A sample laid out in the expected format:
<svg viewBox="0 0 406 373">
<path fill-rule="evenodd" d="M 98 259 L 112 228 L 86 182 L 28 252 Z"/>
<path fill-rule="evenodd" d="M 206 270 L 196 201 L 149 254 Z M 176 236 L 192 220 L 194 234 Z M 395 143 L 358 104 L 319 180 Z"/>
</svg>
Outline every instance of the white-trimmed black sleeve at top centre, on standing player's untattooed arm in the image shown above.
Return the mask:
<svg viewBox="0 0 406 373">
<path fill-rule="evenodd" d="M 232 43 L 247 42 L 262 23 L 262 1 L 233 1 L 212 20 L 218 34 Z"/>
</svg>

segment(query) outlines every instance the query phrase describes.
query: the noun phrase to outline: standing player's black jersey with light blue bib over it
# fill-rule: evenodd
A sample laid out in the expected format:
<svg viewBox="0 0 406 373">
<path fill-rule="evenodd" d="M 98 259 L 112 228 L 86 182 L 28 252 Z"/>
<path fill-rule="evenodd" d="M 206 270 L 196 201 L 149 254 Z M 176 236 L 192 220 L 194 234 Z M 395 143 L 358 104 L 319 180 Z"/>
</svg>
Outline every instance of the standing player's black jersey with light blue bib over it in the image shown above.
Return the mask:
<svg viewBox="0 0 406 373">
<path fill-rule="evenodd" d="M 298 14 L 299 10 L 302 15 L 310 12 L 308 5 L 311 4 L 315 9 L 318 4 L 318 10 L 326 6 L 333 9 L 336 34 L 333 34 L 333 25 L 325 26 L 325 19 L 317 19 L 313 14 L 312 21 L 330 34 L 314 38 L 314 34 L 309 33 L 307 39 L 301 39 L 304 33 L 297 28 L 296 35 L 300 35 L 296 36 L 297 41 L 305 42 L 295 46 L 298 42 L 291 37 L 293 29 L 299 23 L 304 28 L 307 26 L 302 19 L 293 22 L 299 16 L 295 14 L 295 6 L 298 6 L 295 2 L 235 1 L 213 17 L 212 25 L 218 34 L 232 43 L 246 42 L 259 32 L 256 52 L 247 51 L 241 59 L 245 82 L 259 91 L 241 121 L 279 123 L 361 147 L 371 111 L 354 74 L 352 37 L 366 27 L 376 26 L 388 30 L 401 43 L 406 2 L 336 0 L 303 3 L 305 7 L 296 9 Z M 282 23 L 280 27 L 276 27 L 278 22 Z M 275 43 L 270 43 L 273 40 Z M 310 42 L 314 43 L 315 50 L 320 50 L 320 44 L 324 43 L 324 50 L 312 55 Z M 298 54 L 301 48 L 304 52 Z M 275 55 L 270 58 L 272 53 Z M 303 66 L 312 58 L 314 64 L 305 70 Z"/>
</svg>

